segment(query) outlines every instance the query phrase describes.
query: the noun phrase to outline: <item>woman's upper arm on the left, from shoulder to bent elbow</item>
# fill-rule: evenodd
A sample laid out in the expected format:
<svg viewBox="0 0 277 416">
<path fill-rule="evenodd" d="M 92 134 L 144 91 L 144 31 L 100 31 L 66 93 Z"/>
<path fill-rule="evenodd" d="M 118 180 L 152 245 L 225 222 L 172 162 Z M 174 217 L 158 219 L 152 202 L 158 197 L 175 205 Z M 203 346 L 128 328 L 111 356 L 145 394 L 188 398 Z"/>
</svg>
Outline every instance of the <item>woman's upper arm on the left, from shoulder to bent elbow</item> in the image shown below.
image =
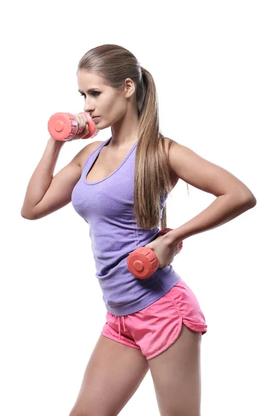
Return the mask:
<svg viewBox="0 0 277 416">
<path fill-rule="evenodd" d="M 33 208 L 30 219 L 37 220 L 42 218 L 71 202 L 73 188 L 82 175 L 81 161 L 85 155 L 89 152 L 93 152 L 93 149 L 97 148 L 100 143 L 102 142 L 95 141 L 93 144 L 88 144 L 82 148 L 69 164 L 64 166 L 64 168 L 53 176 L 44 197 Z"/>
</svg>

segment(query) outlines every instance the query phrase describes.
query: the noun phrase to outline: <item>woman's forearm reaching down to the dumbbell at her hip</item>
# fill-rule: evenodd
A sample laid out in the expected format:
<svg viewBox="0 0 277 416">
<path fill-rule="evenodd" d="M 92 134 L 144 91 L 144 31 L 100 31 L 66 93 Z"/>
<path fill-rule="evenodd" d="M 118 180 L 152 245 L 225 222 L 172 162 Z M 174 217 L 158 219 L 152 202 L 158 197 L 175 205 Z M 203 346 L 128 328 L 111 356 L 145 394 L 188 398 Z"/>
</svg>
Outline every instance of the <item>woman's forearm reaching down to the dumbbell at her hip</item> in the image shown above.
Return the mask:
<svg viewBox="0 0 277 416">
<path fill-rule="evenodd" d="M 223 225 L 255 205 L 255 198 L 239 201 L 231 194 L 218 196 L 204 211 L 166 235 L 170 243 L 179 243 L 190 236 Z"/>
</svg>

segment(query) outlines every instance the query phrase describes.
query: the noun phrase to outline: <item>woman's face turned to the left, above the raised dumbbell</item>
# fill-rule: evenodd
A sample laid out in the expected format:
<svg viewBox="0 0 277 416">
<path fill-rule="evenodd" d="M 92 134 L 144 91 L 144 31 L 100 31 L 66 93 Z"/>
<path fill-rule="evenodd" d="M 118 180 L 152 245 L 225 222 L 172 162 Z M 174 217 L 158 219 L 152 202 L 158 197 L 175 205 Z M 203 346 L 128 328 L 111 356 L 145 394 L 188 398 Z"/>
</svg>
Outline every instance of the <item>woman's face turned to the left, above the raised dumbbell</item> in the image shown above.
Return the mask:
<svg viewBox="0 0 277 416">
<path fill-rule="evenodd" d="M 123 118 L 127 111 L 125 89 L 118 92 L 105 84 L 103 78 L 84 69 L 78 71 L 77 80 L 78 90 L 84 96 L 84 112 L 91 117 L 100 116 L 94 121 L 98 130 L 110 127 Z"/>
</svg>

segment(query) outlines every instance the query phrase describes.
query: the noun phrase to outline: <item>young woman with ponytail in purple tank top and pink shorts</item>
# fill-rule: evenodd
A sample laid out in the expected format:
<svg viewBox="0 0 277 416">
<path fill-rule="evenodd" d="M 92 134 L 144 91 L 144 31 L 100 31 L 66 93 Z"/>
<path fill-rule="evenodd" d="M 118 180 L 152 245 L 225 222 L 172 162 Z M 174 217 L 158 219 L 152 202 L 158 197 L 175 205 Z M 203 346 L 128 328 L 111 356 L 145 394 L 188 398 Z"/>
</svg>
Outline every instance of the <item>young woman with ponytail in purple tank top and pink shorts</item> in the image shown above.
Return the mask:
<svg viewBox="0 0 277 416">
<path fill-rule="evenodd" d="M 98 130 L 110 127 L 111 137 L 85 146 L 54 177 L 65 142 L 50 137 L 21 210 L 35 220 L 72 202 L 90 227 L 107 322 L 70 416 L 118 415 L 149 369 L 161 415 L 200 415 L 200 346 L 207 325 L 170 263 L 181 241 L 251 209 L 256 198 L 224 168 L 161 135 L 154 80 L 131 52 L 113 44 L 93 48 L 80 60 L 77 78 L 84 111 Z M 217 198 L 157 237 L 159 224 L 167 227 L 166 198 L 179 179 Z M 129 253 L 143 246 L 159 259 L 148 279 L 127 268 Z"/>
</svg>

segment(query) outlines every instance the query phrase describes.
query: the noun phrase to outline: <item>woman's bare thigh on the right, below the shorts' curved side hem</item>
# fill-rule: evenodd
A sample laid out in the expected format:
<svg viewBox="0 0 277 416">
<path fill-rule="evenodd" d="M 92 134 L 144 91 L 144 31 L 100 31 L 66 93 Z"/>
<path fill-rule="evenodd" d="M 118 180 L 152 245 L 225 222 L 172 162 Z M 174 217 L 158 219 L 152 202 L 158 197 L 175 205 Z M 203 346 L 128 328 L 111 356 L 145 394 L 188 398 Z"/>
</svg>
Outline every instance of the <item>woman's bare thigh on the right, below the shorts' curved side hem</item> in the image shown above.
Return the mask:
<svg viewBox="0 0 277 416">
<path fill-rule="evenodd" d="M 148 363 L 161 416 L 199 416 L 202 333 L 184 324 L 179 337 Z"/>
</svg>

